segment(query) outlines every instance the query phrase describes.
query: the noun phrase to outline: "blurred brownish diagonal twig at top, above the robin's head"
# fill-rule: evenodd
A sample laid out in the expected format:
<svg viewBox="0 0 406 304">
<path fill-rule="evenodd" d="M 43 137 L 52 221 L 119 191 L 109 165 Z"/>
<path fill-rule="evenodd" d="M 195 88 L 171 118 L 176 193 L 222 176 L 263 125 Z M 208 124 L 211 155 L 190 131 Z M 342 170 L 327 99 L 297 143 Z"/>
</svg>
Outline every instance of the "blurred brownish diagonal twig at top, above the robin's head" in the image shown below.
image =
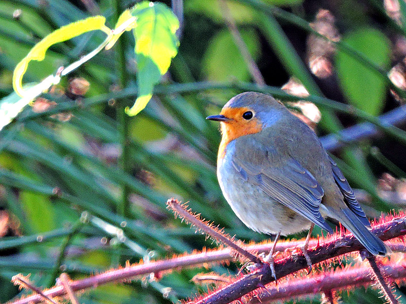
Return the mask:
<svg viewBox="0 0 406 304">
<path fill-rule="evenodd" d="M 255 63 L 254 59 L 252 58 L 250 51 L 248 50 L 247 45 L 245 44 L 243 37 L 241 36 L 240 31 L 238 30 L 234 19 L 231 16 L 230 10 L 228 8 L 227 2 L 225 0 L 218 0 L 219 8 L 223 14 L 225 19 L 225 23 L 234 39 L 235 45 L 240 50 L 241 55 L 244 58 L 245 63 L 251 73 L 252 78 L 254 79 L 255 83 L 259 86 L 265 85 L 265 80 L 262 77 L 262 74 Z"/>
</svg>

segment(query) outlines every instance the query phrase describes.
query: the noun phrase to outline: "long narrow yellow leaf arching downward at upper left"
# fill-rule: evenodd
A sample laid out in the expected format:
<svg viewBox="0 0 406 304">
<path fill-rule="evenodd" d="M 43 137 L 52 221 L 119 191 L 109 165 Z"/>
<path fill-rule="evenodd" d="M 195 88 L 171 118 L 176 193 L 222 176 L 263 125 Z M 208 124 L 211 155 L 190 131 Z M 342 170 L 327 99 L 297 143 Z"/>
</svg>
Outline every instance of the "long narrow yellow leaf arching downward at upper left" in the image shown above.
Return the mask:
<svg viewBox="0 0 406 304">
<path fill-rule="evenodd" d="M 92 30 L 103 30 L 110 34 L 111 30 L 105 25 L 106 18 L 103 16 L 89 17 L 84 20 L 73 22 L 71 24 L 62 26 L 49 35 L 45 36 L 38 44 L 36 44 L 31 51 L 25 56 L 15 67 L 13 74 L 13 88 L 17 94 L 24 97 L 24 90 L 22 88 L 22 78 L 27 70 L 28 63 L 31 60 L 42 61 L 45 58 L 45 53 L 52 45 L 73 37 L 79 36 L 85 32 Z"/>
</svg>

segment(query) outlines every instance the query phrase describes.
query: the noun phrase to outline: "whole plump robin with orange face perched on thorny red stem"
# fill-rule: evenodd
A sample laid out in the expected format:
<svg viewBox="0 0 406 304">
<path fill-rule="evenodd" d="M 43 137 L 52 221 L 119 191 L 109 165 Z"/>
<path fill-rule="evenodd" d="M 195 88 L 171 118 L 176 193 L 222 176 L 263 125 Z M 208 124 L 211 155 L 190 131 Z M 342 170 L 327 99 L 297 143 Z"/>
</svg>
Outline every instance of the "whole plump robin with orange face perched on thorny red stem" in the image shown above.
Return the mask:
<svg viewBox="0 0 406 304">
<path fill-rule="evenodd" d="M 310 230 L 302 251 L 311 269 L 306 250 L 314 224 L 333 233 L 324 217 L 339 220 L 370 253 L 390 253 L 368 230 L 347 179 L 316 134 L 281 102 L 246 92 L 207 119 L 221 123 L 217 177 L 225 199 L 250 229 L 276 235 L 265 258 L 275 278 L 279 236 Z"/>
</svg>

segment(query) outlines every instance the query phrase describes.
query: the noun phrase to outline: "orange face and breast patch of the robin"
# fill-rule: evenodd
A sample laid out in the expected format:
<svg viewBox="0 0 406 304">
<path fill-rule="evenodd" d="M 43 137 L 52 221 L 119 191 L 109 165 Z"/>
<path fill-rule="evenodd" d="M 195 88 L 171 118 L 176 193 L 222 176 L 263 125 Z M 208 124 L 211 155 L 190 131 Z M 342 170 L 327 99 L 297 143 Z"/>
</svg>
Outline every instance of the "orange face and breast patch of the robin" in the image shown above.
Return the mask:
<svg viewBox="0 0 406 304">
<path fill-rule="evenodd" d="M 226 153 L 227 144 L 240 136 L 255 134 L 262 130 L 262 123 L 253 117 L 250 120 L 245 120 L 243 114 L 249 111 L 249 108 L 226 108 L 221 111 L 221 115 L 231 119 L 228 122 L 221 122 L 221 142 L 217 159 L 222 159 Z M 247 147 L 248 148 L 248 147 Z"/>
</svg>

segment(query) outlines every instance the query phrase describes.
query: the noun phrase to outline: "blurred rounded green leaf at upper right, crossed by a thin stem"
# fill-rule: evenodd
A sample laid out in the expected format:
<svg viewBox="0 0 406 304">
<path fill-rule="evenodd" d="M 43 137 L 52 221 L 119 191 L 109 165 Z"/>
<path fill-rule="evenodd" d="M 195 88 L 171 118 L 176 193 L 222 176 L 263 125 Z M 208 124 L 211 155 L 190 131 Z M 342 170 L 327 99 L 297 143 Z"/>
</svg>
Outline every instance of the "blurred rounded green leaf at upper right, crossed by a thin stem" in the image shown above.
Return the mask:
<svg viewBox="0 0 406 304">
<path fill-rule="evenodd" d="M 382 32 L 373 28 L 357 29 L 345 35 L 343 42 L 381 67 L 389 66 L 390 43 Z M 382 77 L 341 51 L 336 55 L 336 68 L 348 101 L 371 115 L 378 115 L 387 91 Z"/>
</svg>

